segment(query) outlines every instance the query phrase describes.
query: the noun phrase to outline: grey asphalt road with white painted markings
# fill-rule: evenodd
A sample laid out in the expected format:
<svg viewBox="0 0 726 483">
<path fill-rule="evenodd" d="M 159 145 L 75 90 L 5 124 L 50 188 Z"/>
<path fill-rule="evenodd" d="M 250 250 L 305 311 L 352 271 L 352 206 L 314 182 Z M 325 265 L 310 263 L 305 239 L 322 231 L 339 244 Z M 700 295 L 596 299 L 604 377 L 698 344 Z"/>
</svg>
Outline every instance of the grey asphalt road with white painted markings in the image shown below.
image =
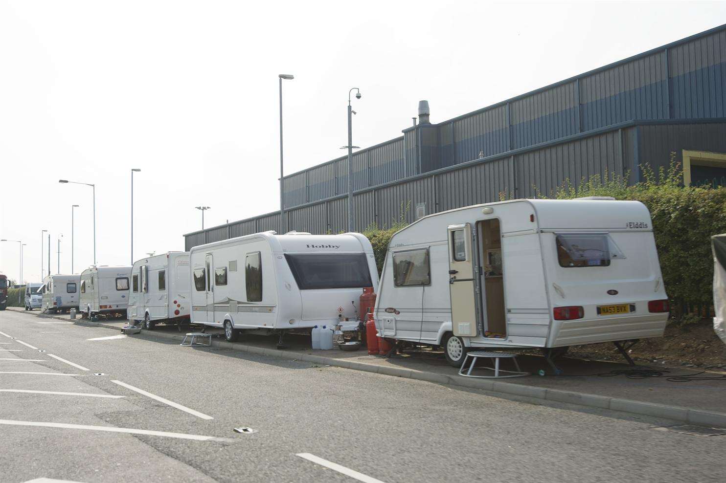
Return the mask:
<svg viewBox="0 0 726 483">
<path fill-rule="evenodd" d="M 653 429 L 674 421 L 166 339 L 88 340 L 118 332 L 9 311 L 0 312 L 0 331 L 2 482 L 726 479 L 726 437 Z M 240 426 L 256 432 L 233 432 Z M 182 439 L 189 434 L 211 439 Z M 300 453 L 357 471 L 358 480 Z"/>
</svg>

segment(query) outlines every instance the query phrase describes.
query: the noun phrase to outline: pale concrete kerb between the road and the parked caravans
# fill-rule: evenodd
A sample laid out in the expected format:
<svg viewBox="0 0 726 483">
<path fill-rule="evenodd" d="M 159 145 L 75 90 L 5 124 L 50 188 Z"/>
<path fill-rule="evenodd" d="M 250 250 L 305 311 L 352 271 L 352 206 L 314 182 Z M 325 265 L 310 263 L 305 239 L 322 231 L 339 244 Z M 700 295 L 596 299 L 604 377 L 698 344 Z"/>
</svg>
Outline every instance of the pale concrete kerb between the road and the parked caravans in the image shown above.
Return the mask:
<svg viewBox="0 0 726 483">
<path fill-rule="evenodd" d="M 23 313 L 27 313 L 29 315 L 36 315 L 36 317 L 40 315 L 32 312 Z M 68 321 L 68 319 L 57 316 L 52 316 L 52 318 L 57 318 L 62 321 Z M 76 320 L 74 321 L 74 323 L 78 323 L 78 325 L 83 326 L 105 327 L 107 329 L 121 330 L 118 326 L 113 326 L 107 323 L 92 323 L 85 320 Z M 181 334 L 176 335 L 153 332 L 152 334 L 147 334 L 147 337 L 181 340 L 183 336 Z M 327 364 L 328 366 L 353 369 L 355 371 L 366 371 L 385 374 L 386 376 L 417 379 L 420 381 L 428 381 L 436 384 L 468 387 L 470 389 L 483 389 L 485 391 L 499 392 L 506 395 L 532 397 L 534 399 L 550 400 L 553 402 L 565 402 L 568 404 L 587 406 L 590 408 L 617 410 L 624 413 L 651 416 L 653 418 L 667 418 L 674 421 L 685 421 L 691 424 L 700 424 L 704 426 L 726 427 L 726 413 L 716 413 L 713 411 L 682 408 L 679 406 L 661 405 L 655 404 L 653 402 L 620 399 L 618 397 L 606 397 L 587 394 L 584 392 L 563 391 L 561 389 L 547 389 L 544 387 L 527 386 L 525 384 L 515 384 L 512 382 L 492 381 L 491 379 L 471 379 L 463 376 L 452 377 L 446 374 L 415 371 L 407 368 L 376 366 L 374 364 L 367 364 L 354 360 L 338 360 L 333 358 L 327 358 L 321 355 L 286 352 L 284 350 L 269 349 L 267 347 L 256 347 L 247 344 L 240 344 L 237 342 L 232 343 L 227 341 L 212 340 L 212 346 L 219 347 L 221 349 L 240 350 L 242 352 L 251 352 L 253 354 L 267 355 L 269 357 L 286 359 L 290 359 L 290 357 L 293 357 L 297 360 L 304 360 L 311 363 L 317 363 L 322 365 Z"/>
</svg>

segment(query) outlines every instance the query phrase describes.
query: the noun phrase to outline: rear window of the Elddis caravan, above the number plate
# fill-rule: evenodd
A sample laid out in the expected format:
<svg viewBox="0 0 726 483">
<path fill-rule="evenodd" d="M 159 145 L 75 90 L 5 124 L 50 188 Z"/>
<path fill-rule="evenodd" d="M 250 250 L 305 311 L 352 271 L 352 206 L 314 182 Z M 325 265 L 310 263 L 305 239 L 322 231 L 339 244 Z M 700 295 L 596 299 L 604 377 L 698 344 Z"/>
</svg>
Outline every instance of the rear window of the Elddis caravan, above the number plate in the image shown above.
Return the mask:
<svg viewBox="0 0 726 483">
<path fill-rule="evenodd" d="M 624 258 L 608 234 L 556 234 L 555 239 L 560 267 L 608 267 L 611 259 Z"/>
</svg>

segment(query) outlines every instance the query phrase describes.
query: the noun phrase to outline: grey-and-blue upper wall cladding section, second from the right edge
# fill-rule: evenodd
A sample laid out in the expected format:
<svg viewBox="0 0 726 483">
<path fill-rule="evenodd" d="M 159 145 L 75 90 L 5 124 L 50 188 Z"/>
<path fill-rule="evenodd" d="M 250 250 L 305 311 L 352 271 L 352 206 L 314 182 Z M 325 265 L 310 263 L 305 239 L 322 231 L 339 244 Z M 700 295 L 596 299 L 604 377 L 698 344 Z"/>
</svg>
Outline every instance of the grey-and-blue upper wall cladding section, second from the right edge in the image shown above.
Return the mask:
<svg viewBox="0 0 726 483">
<path fill-rule="evenodd" d="M 582 131 L 631 119 L 668 118 L 664 51 L 580 79 Z"/>
</svg>

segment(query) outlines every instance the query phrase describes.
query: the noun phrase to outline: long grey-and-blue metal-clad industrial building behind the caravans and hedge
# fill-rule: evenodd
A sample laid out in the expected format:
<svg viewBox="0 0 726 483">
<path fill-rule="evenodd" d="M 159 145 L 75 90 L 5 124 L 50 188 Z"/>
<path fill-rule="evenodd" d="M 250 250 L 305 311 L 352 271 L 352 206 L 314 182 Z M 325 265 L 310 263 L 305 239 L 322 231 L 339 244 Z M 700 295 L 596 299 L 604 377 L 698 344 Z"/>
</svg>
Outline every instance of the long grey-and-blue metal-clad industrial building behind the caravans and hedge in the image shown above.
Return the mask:
<svg viewBox="0 0 726 483">
<path fill-rule="evenodd" d="M 432 103 L 435 104 L 435 103 Z M 357 231 L 509 197 L 535 197 L 569 179 L 667 165 L 684 182 L 726 177 L 726 25 L 468 114 L 429 121 L 420 104 L 403 136 L 353 157 Z M 285 176 L 290 230 L 347 229 L 347 157 Z M 272 212 L 185 235 L 185 249 L 281 231 Z"/>
</svg>

